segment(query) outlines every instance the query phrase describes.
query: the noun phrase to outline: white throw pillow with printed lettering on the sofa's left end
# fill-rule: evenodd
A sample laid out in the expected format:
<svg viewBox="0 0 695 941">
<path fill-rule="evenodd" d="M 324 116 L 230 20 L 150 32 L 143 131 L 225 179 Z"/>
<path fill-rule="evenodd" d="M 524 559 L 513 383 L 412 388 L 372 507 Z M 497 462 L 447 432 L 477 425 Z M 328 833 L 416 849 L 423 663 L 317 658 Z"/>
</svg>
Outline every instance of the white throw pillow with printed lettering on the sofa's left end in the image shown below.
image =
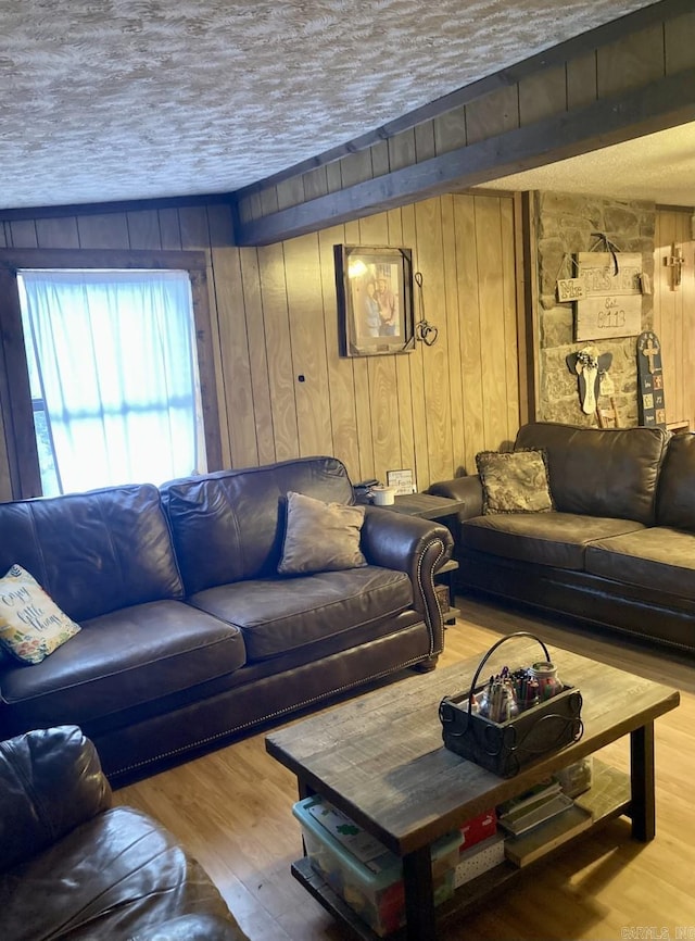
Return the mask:
<svg viewBox="0 0 695 941">
<path fill-rule="evenodd" d="M 21 565 L 0 578 L 0 644 L 23 663 L 40 663 L 80 630 Z"/>
</svg>

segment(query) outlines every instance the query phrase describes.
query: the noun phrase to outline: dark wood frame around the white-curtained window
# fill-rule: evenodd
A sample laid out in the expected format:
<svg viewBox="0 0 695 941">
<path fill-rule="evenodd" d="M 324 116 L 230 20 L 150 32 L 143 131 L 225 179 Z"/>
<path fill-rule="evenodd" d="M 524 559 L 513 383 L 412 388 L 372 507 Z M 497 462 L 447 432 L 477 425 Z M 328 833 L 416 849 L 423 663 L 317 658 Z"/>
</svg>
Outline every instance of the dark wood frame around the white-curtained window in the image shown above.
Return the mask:
<svg viewBox="0 0 695 941">
<path fill-rule="evenodd" d="M 131 249 L 0 249 L 0 356 L 3 367 L 0 376 L 0 410 L 4 426 L 12 499 L 22 500 L 42 495 L 16 278 L 17 271 L 27 268 L 139 268 L 188 272 L 195 326 L 207 469 L 220 470 L 222 441 L 205 252 Z"/>
</svg>

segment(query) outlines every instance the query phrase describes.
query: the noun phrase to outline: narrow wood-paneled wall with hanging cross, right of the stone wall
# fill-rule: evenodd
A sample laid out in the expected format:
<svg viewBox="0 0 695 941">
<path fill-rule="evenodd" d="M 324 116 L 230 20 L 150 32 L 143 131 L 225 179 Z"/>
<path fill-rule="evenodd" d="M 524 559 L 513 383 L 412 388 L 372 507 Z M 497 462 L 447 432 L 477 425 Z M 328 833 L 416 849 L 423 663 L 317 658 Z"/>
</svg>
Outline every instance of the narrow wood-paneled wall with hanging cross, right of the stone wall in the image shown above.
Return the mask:
<svg viewBox="0 0 695 941">
<path fill-rule="evenodd" d="M 661 343 L 667 423 L 695 431 L 695 239 L 692 210 L 657 210 L 654 234 L 654 329 Z M 671 285 L 665 260 L 675 244 L 685 264 Z"/>
</svg>

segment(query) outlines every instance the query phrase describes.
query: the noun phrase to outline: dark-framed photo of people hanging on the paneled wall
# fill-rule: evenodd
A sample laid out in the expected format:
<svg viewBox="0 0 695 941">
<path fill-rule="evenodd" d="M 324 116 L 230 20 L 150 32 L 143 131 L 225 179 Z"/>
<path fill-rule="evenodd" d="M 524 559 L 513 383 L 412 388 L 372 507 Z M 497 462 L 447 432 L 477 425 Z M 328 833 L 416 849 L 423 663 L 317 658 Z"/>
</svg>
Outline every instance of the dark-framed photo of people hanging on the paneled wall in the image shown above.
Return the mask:
<svg viewBox="0 0 695 941">
<path fill-rule="evenodd" d="M 379 356 L 415 348 L 413 253 L 334 246 L 340 354 Z"/>
</svg>

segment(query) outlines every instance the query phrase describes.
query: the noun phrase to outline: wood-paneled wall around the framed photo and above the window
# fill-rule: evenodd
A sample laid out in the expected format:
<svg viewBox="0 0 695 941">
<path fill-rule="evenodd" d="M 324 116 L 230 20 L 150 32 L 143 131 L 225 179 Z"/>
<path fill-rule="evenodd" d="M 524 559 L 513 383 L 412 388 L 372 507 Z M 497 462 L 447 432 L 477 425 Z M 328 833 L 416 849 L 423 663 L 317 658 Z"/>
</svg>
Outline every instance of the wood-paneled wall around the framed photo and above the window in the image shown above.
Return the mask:
<svg viewBox="0 0 695 941">
<path fill-rule="evenodd" d="M 475 472 L 476 452 L 514 439 L 526 416 L 516 214 L 509 196 L 446 195 L 236 248 L 227 206 L 182 205 L 4 222 L 0 244 L 205 250 L 224 464 L 333 454 L 355 481 L 406 467 L 424 490 Z M 438 341 L 340 357 L 334 243 L 412 248 L 424 279 L 415 315 L 437 326 Z M 7 480 L 2 465 L 0 490 Z"/>
</svg>

